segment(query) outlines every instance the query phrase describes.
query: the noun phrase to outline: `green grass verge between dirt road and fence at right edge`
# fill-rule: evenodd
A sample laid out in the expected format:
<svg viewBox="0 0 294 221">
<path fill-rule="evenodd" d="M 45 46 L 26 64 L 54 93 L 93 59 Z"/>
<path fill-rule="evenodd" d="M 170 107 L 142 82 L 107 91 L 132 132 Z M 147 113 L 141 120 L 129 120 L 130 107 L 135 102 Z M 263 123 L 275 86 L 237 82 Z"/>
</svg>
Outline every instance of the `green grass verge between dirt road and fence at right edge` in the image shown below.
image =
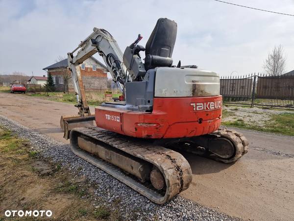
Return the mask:
<svg viewBox="0 0 294 221">
<path fill-rule="evenodd" d="M 272 114 L 263 127 L 249 125 L 243 119 L 222 122 L 222 125 L 294 136 L 294 113 Z"/>
</svg>

